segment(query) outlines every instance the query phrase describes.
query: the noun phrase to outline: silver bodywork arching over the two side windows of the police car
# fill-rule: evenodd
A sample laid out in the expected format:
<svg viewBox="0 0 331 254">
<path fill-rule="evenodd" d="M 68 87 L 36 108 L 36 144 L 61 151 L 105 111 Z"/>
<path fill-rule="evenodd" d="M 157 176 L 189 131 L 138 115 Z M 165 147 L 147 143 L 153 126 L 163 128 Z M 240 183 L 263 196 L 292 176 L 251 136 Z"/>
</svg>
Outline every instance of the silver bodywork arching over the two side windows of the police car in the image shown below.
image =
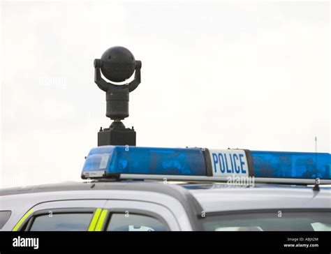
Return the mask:
<svg viewBox="0 0 331 254">
<path fill-rule="evenodd" d="M 88 200 L 122 200 L 145 202 L 145 204 L 159 204 L 154 206 L 155 212 L 159 214 L 165 214 L 164 207 L 172 212 L 177 220 L 177 227 L 173 221 L 167 221 L 171 216 L 165 216 L 165 221 L 169 225 L 174 225 L 174 230 L 192 230 L 191 223 L 186 211 L 182 204 L 174 197 L 161 193 L 152 193 L 149 191 L 52 191 L 41 193 L 26 193 L 19 195 L 5 195 L 0 196 L 0 210 L 10 210 L 12 214 L 1 230 L 12 230 L 16 223 L 29 211 L 29 209 L 35 207 L 38 204 L 45 202 L 65 201 L 68 202 L 68 207 L 71 207 L 71 200 L 85 200 L 85 206 L 91 207 L 91 202 Z M 128 202 L 129 203 L 129 202 Z M 111 204 L 111 203 L 110 203 Z M 93 206 L 92 206 L 93 207 Z M 59 207 L 57 207 L 59 208 Z M 137 209 L 140 208 L 140 205 Z M 159 211 L 157 211 L 159 209 Z"/>
</svg>

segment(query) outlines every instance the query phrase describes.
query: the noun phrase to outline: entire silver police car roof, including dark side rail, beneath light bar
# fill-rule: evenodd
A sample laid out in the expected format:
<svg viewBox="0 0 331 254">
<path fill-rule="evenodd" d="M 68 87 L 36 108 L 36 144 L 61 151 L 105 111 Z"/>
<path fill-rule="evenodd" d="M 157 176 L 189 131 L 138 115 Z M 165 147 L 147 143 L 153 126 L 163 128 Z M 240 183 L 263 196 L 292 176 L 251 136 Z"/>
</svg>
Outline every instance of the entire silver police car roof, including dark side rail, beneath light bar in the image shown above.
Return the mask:
<svg viewBox="0 0 331 254">
<path fill-rule="evenodd" d="M 226 184 L 163 184 L 155 181 L 92 181 L 4 188 L 0 196 L 57 191 L 151 191 L 179 200 L 186 211 L 243 211 L 256 209 L 330 209 L 331 188 L 307 186 Z"/>
</svg>

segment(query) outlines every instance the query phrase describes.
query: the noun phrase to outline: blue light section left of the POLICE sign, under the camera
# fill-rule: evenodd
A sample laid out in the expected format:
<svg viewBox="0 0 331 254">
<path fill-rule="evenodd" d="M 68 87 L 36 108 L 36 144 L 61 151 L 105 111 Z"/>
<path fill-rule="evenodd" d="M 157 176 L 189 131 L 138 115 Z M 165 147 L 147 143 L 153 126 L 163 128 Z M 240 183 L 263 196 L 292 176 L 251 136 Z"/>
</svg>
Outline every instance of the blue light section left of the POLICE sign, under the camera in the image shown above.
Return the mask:
<svg viewBox="0 0 331 254">
<path fill-rule="evenodd" d="M 103 146 L 91 149 L 82 178 L 114 174 L 206 175 L 203 151 L 198 148 Z"/>
</svg>

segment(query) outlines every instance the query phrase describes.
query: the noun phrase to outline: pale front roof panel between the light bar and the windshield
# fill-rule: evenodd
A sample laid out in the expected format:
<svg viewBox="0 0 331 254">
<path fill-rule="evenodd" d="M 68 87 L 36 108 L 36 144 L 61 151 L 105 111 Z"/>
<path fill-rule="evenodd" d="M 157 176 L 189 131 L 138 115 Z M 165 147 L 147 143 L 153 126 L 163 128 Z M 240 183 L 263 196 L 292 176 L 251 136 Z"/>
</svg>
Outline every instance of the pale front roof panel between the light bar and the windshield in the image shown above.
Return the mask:
<svg viewBox="0 0 331 254">
<path fill-rule="evenodd" d="M 206 212 L 263 209 L 331 209 L 331 188 L 309 186 L 226 184 L 186 186 Z"/>
</svg>

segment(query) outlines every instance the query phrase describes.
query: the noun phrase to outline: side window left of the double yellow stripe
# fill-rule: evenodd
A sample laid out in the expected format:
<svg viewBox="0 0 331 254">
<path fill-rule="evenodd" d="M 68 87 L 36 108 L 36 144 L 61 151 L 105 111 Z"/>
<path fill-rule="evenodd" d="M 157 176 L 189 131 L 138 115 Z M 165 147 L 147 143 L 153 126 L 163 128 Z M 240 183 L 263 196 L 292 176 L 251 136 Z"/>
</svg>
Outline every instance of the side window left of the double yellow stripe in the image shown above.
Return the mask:
<svg viewBox="0 0 331 254">
<path fill-rule="evenodd" d="M 93 212 L 47 213 L 34 216 L 28 231 L 87 231 Z"/>
</svg>

